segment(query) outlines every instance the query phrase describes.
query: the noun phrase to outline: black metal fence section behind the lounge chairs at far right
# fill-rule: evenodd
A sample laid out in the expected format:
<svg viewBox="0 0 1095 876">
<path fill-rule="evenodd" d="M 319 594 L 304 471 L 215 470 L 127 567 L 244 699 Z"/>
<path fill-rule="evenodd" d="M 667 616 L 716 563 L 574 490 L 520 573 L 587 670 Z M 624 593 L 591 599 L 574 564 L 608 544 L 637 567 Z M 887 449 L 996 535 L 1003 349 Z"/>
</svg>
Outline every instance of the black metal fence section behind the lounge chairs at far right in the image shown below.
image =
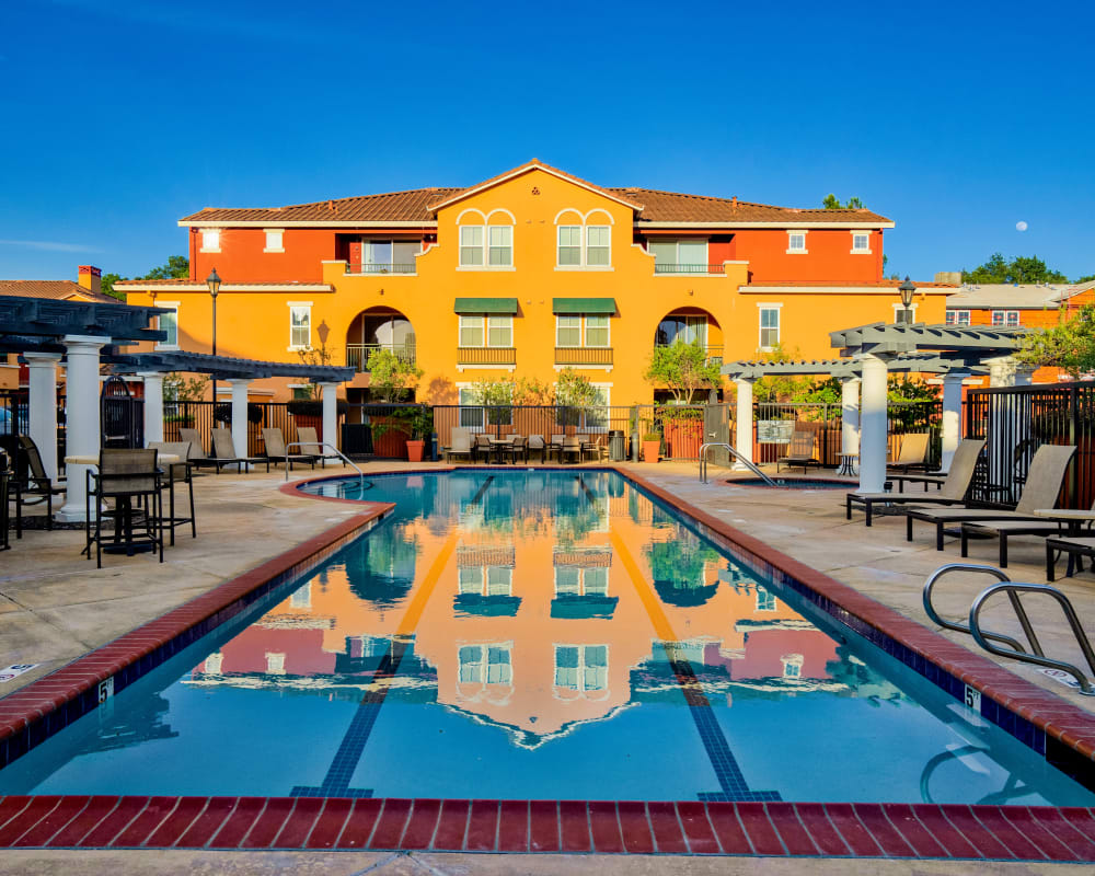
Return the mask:
<svg viewBox="0 0 1095 876">
<path fill-rule="evenodd" d="M 1041 445 L 1071 445 L 1076 456 L 1061 504 L 1095 505 L 1095 382 L 971 390 L 966 396 L 966 436 L 987 441 L 973 484 L 976 500 L 1017 502 L 1035 451 Z"/>
</svg>

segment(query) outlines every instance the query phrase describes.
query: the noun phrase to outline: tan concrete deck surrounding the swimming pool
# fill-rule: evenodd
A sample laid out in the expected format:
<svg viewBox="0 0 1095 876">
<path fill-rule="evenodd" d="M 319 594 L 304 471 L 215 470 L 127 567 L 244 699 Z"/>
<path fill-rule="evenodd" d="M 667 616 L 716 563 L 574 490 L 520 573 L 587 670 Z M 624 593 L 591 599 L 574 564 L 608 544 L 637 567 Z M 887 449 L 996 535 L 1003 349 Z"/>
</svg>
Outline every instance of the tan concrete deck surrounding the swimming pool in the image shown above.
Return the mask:
<svg viewBox="0 0 1095 876">
<path fill-rule="evenodd" d="M 374 463 L 367 466 L 367 471 L 412 468 L 424 466 Z M 897 609 L 925 626 L 923 609 L 919 601 L 923 578 L 938 565 L 953 562 L 957 556 L 957 550 L 948 551 L 946 554 L 936 553 L 926 539 L 926 531 L 924 539 L 918 540 L 912 545 L 907 544 L 903 539 L 903 527 L 894 520 L 879 519 L 869 530 L 863 527 L 862 518 L 851 523 L 846 522 L 840 505 L 842 496 L 840 492 L 788 494 L 783 491 L 738 487 L 723 482 L 700 485 L 695 480 L 695 466 L 688 464 L 662 463 L 657 466 L 624 468 L 746 534 L 759 538 L 776 550 L 828 573 L 837 580 Z M 327 474 L 334 473 L 337 473 L 337 470 L 327 471 Z M 307 476 L 311 475 L 309 472 Z M 10 603 L 0 613 L 0 660 L 4 661 L 3 665 L 39 661 L 46 665 L 38 667 L 35 675 L 27 673 L 27 677 L 0 685 L 0 692 L 9 693 L 15 690 L 18 684 L 33 680 L 36 676 L 67 664 L 80 654 L 160 616 L 182 602 L 207 592 L 226 578 L 252 568 L 269 556 L 336 526 L 357 510 L 356 506 L 350 504 L 314 502 L 285 495 L 277 489 L 284 482 L 283 477 L 284 475 L 272 473 L 242 477 L 223 474 L 219 477 L 201 479 L 196 483 L 199 538 L 192 540 L 188 534 L 180 533 L 176 546 L 168 550 L 162 566 L 148 556 L 131 558 L 114 556 L 104 558 L 104 568 L 96 572 L 93 564 L 79 555 L 83 543 L 82 532 L 25 533 L 22 542 L 14 542 L 15 550 L 0 554 L 0 595 Z M 794 496 L 796 507 L 788 512 L 789 496 Z M 30 541 L 32 538 L 36 540 L 36 544 Z M 975 545 L 975 560 L 979 549 L 984 556 L 981 562 L 987 562 L 989 555 L 994 554 L 990 548 Z M 1012 572 L 1017 579 L 1037 581 L 1044 579 L 1040 546 L 1036 540 L 1016 540 Z M 1064 581 L 1062 586 L 1070 597 L 1076 599 L 1082 616 L 1085 613 L 1086 616 L 1091 616 L 1092 600 L 1085 592 L 1085 588 L 1091 590 L 1091 581 L 1092 575 L 1084 573 L 1075 580 Z M 968 608 L 972 595 L 983 586 L 983 579 L 969 583 L 968 596 L 960 588 L 956 588 L 957 592 L 953 597 L 941 600 L 944 610 L 956 616 L 961 614 Z M 1072 590 L 1075 590 L 1075 593 Z M 1085 598 L 1087 601 L 1082 601 Z M 1042 620 L 1046 621 L 1045 625 Z M 1039 630 L 1045 626 L 1045 630 L 1050 631 L 1044 634 L 1044 641 L 1047 649 L 1053 653 L 1060 636 L 1052 632 L 1053 627 L 1048 623 L 1049 620 L 1047 614 L 1045 619 L 1039 618 L 1038 623 Z M 43 632 L 43 625 L 49 635 Z M 1003 618 L 1000 619 L 999 625 L 1004 625 Z M 15 641 L 9 631 L 19 634 L 18 653 L 4 650 L 9 647 L 9 642 Z M 955 641 L 963 647 L 972 644 L 963 641 L 961 637 Z M 68 649 L 59 648 L 59 643 L 66 643 Z M 1027 669 L 1011 661 L 1006 664 L 1006 668 L 1011 671 Z M 1017 675 L 1024 673 L 1017 672 Z M 1069 689 L 1056 680 L 1046 678 L 1039 672 L 1024 675 L 1024 678 L 1054 694 L 1063 694 L 1076 705 L 1091 710 L 1091 703 L 1085 698 L 1071 694 Z M 3 690 L 4 687 L 9 690 Z M 110 854 L 141 853 L 111 852 Z M 308 853 L 302 855 L 301 865 L 309 857 Z M 419 862 L 423 858 L 440 861 L 451 857 L 424 854 L 416 855 L 415 861 Z M 234 862 L 234 857 L 232 860 Z M 520 861 L 519 872 L 563 872 L 537 864 L 537 861 L 545 860 L 541 857 L 533 858 L 529 867 L 525 866 L 525 862 L 528 861 L 526 856 L 507 860 L 512 861 L 515 866 L 517 861 Z M 627 858 L 636 862 L 636 866 L 639 860 Z M 461 873 L 480 872 L 481 866 L 485 866 L 487 861 L 496 858 L 466 856 L 461 862 L 457 856 L 454 862 L 449 862 L 452 863 L 451 868 L 428 863 L 423 863 L 420 866 L 414 863 L 412 866 L 411 857 L 405 855 L 391 860 L 381 856 L 374 864 L 392 873 Z M 574 861 L 578 862 L 580 858 Z M 42 862 L 45 863 L 45 858 L 42 858 Z M 242 865 L 242 862 L 239 863 Z M 590 863 L 586 862 L 587 865 Z M 740 862 L 734 860 L 734 863 Z M 854 864 L 846 860 L 841 863 L 845 868 L 842 872 L 849 872 L 850 865 Z M 918 871 L 934 872 L 924 869 L 925 863 L 919 861 L 915 865 Z M 360 872 L 374 864 L 364 864 L 357 871 L 346 872 Z M 851 869 L 857 869 L 858 866 L 866 864 L 867 862 L 860 862 Z M 623 863 L 621 862 L 619 866 L 623 866 Z M 695 861 L 695 866 L 696 869 L 688 872 L 706 872 L 702 868 L 706 866 L 706 862 Z M 968 862 L 965 866 L 968 866 Z M 505 869 L 502 863 L 498 867 L 496 872 L 511 872 Z M 598 864 L 598 868 L 602 867 Z M 643 871 L 632 868 L 627 872 Z M 678 871 L 675 865 L 672 868 L 658 867 L 656 872 Z M 679 872 L 685 871 L 682 868 Z"/>
</svg>

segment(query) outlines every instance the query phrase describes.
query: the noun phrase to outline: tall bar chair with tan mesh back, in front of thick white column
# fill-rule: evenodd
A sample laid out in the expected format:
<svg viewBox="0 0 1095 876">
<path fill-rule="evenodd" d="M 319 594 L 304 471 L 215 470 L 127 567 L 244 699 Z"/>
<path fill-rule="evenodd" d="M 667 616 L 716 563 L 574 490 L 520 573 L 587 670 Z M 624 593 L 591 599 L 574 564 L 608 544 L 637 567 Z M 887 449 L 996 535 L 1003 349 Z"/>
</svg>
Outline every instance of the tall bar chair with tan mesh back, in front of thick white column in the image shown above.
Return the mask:
<svg viewBox="0 0 1095 876">
<path fill-rule="evenodd" d="M 103 520 L 114 519 L 112 548 L 125 550 L 132 556 L 138 548 L 159 549 L 163 562 L 162 496 L 160 471 L 157 468 L 158 451 L 103 448 L 99 451 L 99 471 L 85 472 L 88 492 L 84 497 L 87 537 L 85 551 L 91 560 L 91 544 L 95 544 L 95 564 L 103 567 Z M 112 510 L 105 510 L 106 502 L 113 500 Z M 94 522 L 94 528 L 92 528 Z M 142 532 L 135 538 L 135 530 Z"/>
</svg>

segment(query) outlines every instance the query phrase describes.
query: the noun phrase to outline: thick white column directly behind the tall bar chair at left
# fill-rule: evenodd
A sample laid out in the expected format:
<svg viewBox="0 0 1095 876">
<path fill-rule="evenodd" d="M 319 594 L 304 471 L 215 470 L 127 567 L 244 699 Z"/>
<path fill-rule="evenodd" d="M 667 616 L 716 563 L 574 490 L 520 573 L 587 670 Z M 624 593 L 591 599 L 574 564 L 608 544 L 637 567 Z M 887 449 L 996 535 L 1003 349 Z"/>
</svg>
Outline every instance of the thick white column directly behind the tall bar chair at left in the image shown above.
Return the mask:
<svg viewBox="0 0 1095 876">
<path fill-rule="evenodd" d="M 65 456 L 99 458 L 101 445 L 99 420 L 99 351 L 108 337 L 65 335 L 65 355 L 68 359 L 65 377 L 66 442 Z M 64 507 L 57 511 L 61 521 L 80 521 L 88 518 L 84 502 L 88 484 L 84 477 L 89 465 L 65 465 L 66 486 Z"/>
</svg>

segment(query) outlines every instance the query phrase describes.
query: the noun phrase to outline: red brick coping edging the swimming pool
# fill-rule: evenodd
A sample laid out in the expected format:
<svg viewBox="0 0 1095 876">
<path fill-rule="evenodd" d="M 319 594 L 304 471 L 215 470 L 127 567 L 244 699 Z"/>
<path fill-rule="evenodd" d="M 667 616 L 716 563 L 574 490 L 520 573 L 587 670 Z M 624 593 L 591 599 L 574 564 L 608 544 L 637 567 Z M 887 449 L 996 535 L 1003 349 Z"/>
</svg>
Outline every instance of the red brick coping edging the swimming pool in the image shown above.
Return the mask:
<svg viewBox="0 0 1095 876">
<path fill-rule="evenodd" d="M 424 474 L 453 468 L 384 473 Z M 634 472 L 603 468 L 618 471 L 702 527 L 959 675 L 982 695 L 1024 715 L 1086 758 L 1095 753 L 1095 717 L 1082 710 L 772 550 Z M 299 486 L 321 480 L 326 479 L 297 481 L 280 489 L 303 496 Z M 222 614 L 273 578 L 303 568 L 315 557 L 336 550 L 392 507 L 373 504 L 362 514 L 3 698 L 0 744 L 9 745 L 19 734 L 33 734 L 67 704 L 81 696 L 87 699 L 101 681 L 134 667 L 199 625 L 216 624 Z M 368 849 L 1095 862 L 1095 809 L 36 795 L 0 798 L 0 848 Z"/>
</svg>

